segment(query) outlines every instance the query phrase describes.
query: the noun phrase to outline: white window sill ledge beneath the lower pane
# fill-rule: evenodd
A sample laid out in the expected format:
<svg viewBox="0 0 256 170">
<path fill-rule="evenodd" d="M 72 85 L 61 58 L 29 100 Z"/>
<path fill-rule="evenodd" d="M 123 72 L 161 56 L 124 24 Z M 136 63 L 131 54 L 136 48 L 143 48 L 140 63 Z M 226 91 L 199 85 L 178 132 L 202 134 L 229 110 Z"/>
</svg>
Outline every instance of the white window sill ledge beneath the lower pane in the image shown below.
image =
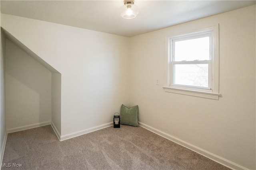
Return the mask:
<svg viewBox="0 0 256 170">
<path fill-rule="evenodd" d="M 218 93 L 200 92 L 196 90 L 186 90 L 186 89 L 180 89 L 180 88 L 163 87 L 163 89 L 165 92 L 184 94 L 188 96 L 196 96 L 200 98 L 208 98 L 208 99 L 214 99 L 214 100 L 219 100 L 219 97 L 221 96 L 221 94 L 218 94 Z"/>
</svg>

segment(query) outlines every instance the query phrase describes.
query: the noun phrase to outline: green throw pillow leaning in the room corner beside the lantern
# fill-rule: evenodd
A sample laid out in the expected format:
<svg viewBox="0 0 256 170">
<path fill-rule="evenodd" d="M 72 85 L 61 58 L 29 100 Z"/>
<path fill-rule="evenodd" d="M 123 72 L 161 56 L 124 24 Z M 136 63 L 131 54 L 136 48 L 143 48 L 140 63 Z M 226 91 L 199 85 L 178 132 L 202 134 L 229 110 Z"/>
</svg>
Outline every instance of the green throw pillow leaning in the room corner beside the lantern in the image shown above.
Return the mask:
<svg viewBox="0 0 256 170">
<path fill-rule="evenodd" d="M 130 109 L 122 104 L 120 111 L 120 124 L 138 127 L 138 106 Z"/>
</svg>

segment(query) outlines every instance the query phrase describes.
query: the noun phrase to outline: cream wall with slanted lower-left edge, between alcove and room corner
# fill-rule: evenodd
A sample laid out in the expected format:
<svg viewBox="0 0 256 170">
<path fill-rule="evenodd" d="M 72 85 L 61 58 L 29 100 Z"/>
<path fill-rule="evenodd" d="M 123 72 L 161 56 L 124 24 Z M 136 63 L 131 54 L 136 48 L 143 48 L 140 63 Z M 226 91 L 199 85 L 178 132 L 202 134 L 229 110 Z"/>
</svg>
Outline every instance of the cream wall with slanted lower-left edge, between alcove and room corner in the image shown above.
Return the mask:
<svg viewBox="0 0 256 170">
<path fill-rule="evenodd" d="M 61 73 L 61 135 L 112 122 L 129 103 L 129 39 L 2 14 L 2 27 Z"/>
</svg>

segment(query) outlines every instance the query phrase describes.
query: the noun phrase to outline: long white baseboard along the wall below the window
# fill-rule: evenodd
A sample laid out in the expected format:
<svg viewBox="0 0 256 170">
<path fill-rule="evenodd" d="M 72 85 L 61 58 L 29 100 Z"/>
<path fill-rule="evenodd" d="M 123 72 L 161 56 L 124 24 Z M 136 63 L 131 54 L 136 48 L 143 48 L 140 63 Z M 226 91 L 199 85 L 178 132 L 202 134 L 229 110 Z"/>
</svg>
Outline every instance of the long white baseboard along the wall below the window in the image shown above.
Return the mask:
<svg viewBox="0 0 256 170">
<path fill-rule="evenodd" d="M 230 160 L 222 158 L 222 157 L 220 157 L 220 156 L 218 156 L 216 154 L 208 152 L 207 150 L 204 150 L 204 149 L 201 149 L 199 147 L 196 147 L 196 146 L 194 146 L 194 145 L 192 145 L 192 144 L 190 144 L 188 142 L 182 141 L 181 139 L 178 139 L 176 137 L 173 137 L 172 135 L 169 135 L 169 134 L 164 133 L 164 132 L 162 132 L 162 131 L 160 131 L 158 129 L 155 129 L 154 127 L 150 127 L 150 126 L 148 126 L 148 125 L 146 125 L 144 123 L 141 123 L 141 122 L 138 122 L 138 123 L 139 123 L 139 125 L 141 127 L 145 128 L 145 129 L 147 129 L 149 131 L 152 131 L 153 133 L 156 133 L 157 135 L 160 135 L 160 136 L 162 136 L 162 137 L 164 137 L 164 138 L 166 138 L 166 139 L 168 139 L 170 141 L 173 141 L 173 142 L 175 142 L 175 143 L 177 143 L 177 144 L 179 144 L 179 145 L 181 145 L 183 147 L 186 147 L 186 148 L 188 148 L 190 150 L 193 150 L 194 152 L 197 152 L 197 153 L 199 153 L 199 154 L 201 154 L 201 155 L 203 155 L 203 156 L 205 156 L 205 157 L 207 157 L 207 158 L 209 158 L 211 160 L 214 160 L 215 162 L 218 162 L 218 163 L 220 163 L 220 164 L 222 164 L 224 166 L 227 166 L 228 168 L 231 168 L 231 169 L 234 169 L 234 170 L 237 170 L 237 169 L 247 170 L 248 169 L 248 168 L 245 168 L 245 167 L 243 167 L 243 166 L 241 166 L 239 164 L 236 164 L 236 163 L 234 163 L 234 162 L 232 162 Z"/>
</svg>

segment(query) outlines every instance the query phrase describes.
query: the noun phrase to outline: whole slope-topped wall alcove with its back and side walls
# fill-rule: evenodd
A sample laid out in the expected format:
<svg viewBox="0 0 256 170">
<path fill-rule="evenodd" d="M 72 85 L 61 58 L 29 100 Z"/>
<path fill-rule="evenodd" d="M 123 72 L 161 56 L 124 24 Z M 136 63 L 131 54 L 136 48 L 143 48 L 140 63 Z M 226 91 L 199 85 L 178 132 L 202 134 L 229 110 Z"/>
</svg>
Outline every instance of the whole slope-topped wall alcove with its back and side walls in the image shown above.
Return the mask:
<svg viewBox="0 0 256 170">
<path fill-rule="evenodd" d="M 5 41 L 5 114 L 8 133 L 52 125 L 61 135 L 61 74 L 8 31 Z M 28 119 L 29 118 L 29 119 Z"/>
</svg>

